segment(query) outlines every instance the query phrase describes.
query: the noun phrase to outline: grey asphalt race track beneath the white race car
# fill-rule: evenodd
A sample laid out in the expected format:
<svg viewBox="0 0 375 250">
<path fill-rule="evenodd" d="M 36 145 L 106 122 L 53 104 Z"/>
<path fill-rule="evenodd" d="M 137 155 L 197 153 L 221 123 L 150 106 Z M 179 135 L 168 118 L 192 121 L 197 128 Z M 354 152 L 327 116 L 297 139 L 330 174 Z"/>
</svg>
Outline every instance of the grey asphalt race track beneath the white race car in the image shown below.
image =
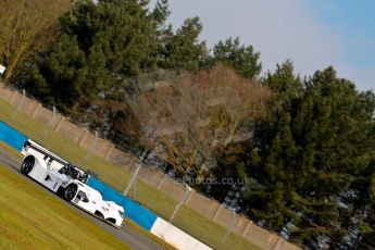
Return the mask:
<svg viewBox="0 0 375 250">
<path fill-rule="evenodd" d="M 133 230 L 130 227 L 128 227 L 128 226 L 123 224 L 120 229 L 114 228 L 113 226 L 111 226 L 111 225 L 109 225 L 109 224 L 107 224 L 107 223 L 96 218 L 95 216 L 92 216 L 92 215 L 90 215 L 90 214 L 79 210 L 78 208 L 74 207 L 73 204 L 66 202 L 65 200 L 63 200 L 61 198 L 59 198 L 58 196 L 55 196 L 53 192 L 49 191 L 48 189 L 46 189 L 41 185 L 37 184 L 36 182 L 33 182 L 33 179 L 27 178 L 26 176 L 24 176 L 20 172 L 21 161 L 16 157 L 14 157 L 13 154 L 9 153 L 8 151 L 5 151 L 5 150 L 3 150 L 1 148 L 0 148 L 0 164 L 4 165 L 4 166 L 9 166 L 15 173 L 17 173 L 20 176 L 22 176 L 25 179 L 25 182 L 33 183 L 35 186 L 37 186 L 40 189 L 45 190 L 47 193 L 50 193 L 51 196 L 55 197 L 61 202 L 64 202 L 65 204 L 68 204 L 72 209 L 78 211 L 83 216 L 91 220 L 93 223 L 99 225 L 101 228 L 103 228 L 104 230 L 107 230 L 108 233 L 113 235 L 114 237 L 118 238 L 122 242 L 124 242 L 125 245 L 127 245 L 132 249 L 142 249 L 142 250 L 163 249 L 162 247 L 160 247 L 155 242 L 151 241 L 147 237 L 143 237 L 143 236 L 139 235 L 138 233 Z M 0 167 L 2 167 L 2 166 L 0 166 Z"/>
</svg>

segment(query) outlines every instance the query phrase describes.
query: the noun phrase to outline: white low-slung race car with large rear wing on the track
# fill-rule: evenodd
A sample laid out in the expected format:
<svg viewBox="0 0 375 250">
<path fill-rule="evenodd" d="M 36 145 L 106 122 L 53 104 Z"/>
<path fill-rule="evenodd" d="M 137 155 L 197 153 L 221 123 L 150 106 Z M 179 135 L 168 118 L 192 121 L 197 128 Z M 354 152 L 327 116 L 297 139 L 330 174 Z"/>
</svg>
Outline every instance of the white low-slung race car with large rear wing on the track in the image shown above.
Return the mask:
<svg viewBox="0 0 375 250">
<path fill-rule="evenodd" d="M 124 209 L 113 201 L 104 201 L 99 191 L 85 183 L 88 174 L 65 160 L 45 151 L 39 145 L 25 143 L 21 172 L 76 207 L 121 227 Z"/>
</svg>

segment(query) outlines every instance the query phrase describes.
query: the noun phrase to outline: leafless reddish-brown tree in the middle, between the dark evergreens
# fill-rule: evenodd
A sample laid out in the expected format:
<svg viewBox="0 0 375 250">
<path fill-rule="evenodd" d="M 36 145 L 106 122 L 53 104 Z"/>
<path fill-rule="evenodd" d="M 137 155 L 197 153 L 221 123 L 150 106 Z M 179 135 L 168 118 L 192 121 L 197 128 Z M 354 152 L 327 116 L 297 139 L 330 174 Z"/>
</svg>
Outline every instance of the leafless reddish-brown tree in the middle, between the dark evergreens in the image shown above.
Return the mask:
<svg viewBox="0 0 375 250">
<path fill-rule="evenodd" d="M 216 152 L 251 139 L 253 122 L 271 98 L 266 87 L 224 65 L 163 84 L 137 83 L 127 101 L 149 147 L 177 172 L 193 170 L 198 176 L 214 165 Z"/>
</svg>

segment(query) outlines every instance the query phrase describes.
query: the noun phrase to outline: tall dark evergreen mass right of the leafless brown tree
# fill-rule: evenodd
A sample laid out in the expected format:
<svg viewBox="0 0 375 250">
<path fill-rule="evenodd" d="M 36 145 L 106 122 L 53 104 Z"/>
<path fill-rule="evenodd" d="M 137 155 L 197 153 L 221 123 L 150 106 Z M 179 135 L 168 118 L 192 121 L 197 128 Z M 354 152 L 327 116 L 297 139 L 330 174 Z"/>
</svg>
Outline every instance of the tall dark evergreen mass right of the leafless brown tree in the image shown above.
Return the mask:
<svg viewBox="0 0 375 250">
<path fill-rule="evenodd" d="M 243 207 L 261 225 L 296 242 L 338 248 L 350 235 L 345 218 L 361 196 L 348 193 L 361 193 L 355 184 L 374 160 L 368 133 L 374 107 L 361 104 L 354 85 L 337 78 L 332 67 L 302 88 L 287 62 L 265 83 L 279 103 L 258 125 Z"/>
</svg>

